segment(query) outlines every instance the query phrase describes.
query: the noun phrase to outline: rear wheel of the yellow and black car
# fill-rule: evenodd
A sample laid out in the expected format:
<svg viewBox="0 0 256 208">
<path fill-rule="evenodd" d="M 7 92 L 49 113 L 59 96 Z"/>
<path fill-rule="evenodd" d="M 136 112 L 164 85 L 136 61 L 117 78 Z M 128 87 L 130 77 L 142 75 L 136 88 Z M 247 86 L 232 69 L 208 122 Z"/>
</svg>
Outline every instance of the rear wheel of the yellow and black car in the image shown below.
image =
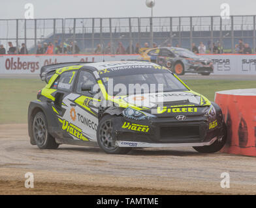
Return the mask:
<svg viewBox="0 0 256 208">
<path fill-rule="evenodd" d="M 38 112 L 33 120 L 32 133 L 39 149 L 57 149 L 59 144 L 48 133 L 48 124 L 43 112 Z"/>
</svg>

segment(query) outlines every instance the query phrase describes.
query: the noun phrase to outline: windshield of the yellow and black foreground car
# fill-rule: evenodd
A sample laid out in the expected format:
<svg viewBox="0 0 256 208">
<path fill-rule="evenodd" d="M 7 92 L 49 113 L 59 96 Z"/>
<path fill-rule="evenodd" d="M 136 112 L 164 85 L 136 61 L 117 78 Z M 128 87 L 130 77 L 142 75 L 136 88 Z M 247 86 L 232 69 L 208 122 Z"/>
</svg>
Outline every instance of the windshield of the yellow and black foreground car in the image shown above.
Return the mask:
<svg viewBox="0 0 256 208">
<path fill-rule="evenodd" d="M 129 72 L 127 72 L 129 71 Z M 125 74 L 116 73 L 102 77 L 111 96 L 127 96 L 153 92 L 174 92 L 188 90 L 168 70 L 125 70 Z"/>
</svg>

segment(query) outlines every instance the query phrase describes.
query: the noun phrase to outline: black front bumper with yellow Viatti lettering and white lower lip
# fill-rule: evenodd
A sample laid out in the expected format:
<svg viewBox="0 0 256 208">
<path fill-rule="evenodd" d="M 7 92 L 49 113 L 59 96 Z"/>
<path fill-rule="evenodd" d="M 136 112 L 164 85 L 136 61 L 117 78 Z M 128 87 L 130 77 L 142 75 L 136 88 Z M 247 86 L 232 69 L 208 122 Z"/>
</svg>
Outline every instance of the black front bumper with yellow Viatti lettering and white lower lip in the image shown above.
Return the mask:
<svg viewBox="0 0 256 208">
<path fill-rule="evenodd" d="M 116 146 L 138 148 L 207 146 L 223 136 L 225 125 L 221 118 L 216 127 L 209 129 L 210 122 L 200 117 L 187 122 L 174 118 L 136 121 L 118 117 L 114 123 Z"/>
</svg>

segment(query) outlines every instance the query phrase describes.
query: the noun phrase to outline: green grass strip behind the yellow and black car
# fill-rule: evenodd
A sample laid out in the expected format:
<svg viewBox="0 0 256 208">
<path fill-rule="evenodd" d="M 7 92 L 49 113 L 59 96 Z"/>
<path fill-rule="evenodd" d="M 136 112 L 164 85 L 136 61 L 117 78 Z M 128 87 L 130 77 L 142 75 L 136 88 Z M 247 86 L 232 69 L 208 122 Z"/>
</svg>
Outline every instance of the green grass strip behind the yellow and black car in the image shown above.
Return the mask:
<svg viewBox="0 0 256 208">
<path fill-rule="evenodd" d="M 214 100 L 219 90 L 256 88 L 255 81 L 231 80 L 184 80 L 187 85 Z M 37 99 L 37 91 L 45 85 L 40 79 L 0 79 L 0 124 L 27 123 L 27 108 L 31 100 Z"/>
</svg>

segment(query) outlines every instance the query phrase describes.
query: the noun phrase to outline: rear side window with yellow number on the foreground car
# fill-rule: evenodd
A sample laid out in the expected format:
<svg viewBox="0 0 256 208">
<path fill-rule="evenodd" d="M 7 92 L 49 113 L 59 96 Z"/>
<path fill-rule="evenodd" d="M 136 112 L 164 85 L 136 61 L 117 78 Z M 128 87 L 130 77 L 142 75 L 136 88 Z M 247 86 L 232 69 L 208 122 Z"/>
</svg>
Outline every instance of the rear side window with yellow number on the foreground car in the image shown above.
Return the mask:
<svg viewBox="0 0 256 208">
<path fill-rule="evenodd" d="M 74 79 L 76 77 L 76 71 L 63 72 L 59 77 L 59 83 L 57 84 L 58 90 L 72 90 Z"/>
</svg>

